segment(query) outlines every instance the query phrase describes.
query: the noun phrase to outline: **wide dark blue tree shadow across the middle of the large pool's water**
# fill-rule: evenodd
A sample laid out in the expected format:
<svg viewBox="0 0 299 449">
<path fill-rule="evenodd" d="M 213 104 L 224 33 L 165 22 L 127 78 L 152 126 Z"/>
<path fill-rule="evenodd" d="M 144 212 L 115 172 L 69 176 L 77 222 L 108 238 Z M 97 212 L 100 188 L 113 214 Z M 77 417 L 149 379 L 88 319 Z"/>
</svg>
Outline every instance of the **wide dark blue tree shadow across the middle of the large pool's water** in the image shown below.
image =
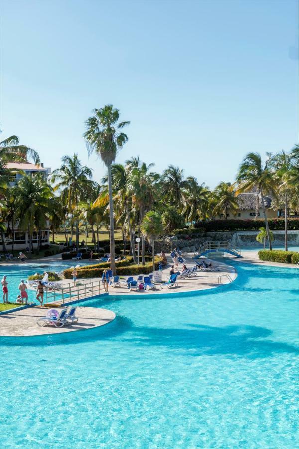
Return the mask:
<svg viewBox="0 0 299 449">
<path fill-rule="evenodd" d="M 265 340 L 272 332 L 264 327 L 190 325 L 189 329 L 134 327 L 138 345 L 165 346 L 183 350 L 191 356 L 235 355 L 249 358 L 271 357 L 276 353 L 298 354 L 298 348 L 287 343 Z M 191 351 L 190 351 L 191 350 Z"/>
</svg>

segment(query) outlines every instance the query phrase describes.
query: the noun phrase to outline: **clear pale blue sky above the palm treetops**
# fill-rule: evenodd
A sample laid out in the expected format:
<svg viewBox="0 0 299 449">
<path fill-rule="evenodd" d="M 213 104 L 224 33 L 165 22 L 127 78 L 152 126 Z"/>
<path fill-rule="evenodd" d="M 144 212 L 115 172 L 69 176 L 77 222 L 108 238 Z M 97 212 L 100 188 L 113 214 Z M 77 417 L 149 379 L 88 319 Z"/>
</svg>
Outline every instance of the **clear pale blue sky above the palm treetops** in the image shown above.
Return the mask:
<svg viewBox="0 0 299 449">
<path fill-rule="evenodd" d="M 78 152 L 100 180 L 82 133 L 112 103 L 131 120 L 117 161 L 233 181 L 247 152 L 298 142 L 297 41 L 295 0 L 2 0 L 2 137 L 52 168 Z"/>
</svg>

